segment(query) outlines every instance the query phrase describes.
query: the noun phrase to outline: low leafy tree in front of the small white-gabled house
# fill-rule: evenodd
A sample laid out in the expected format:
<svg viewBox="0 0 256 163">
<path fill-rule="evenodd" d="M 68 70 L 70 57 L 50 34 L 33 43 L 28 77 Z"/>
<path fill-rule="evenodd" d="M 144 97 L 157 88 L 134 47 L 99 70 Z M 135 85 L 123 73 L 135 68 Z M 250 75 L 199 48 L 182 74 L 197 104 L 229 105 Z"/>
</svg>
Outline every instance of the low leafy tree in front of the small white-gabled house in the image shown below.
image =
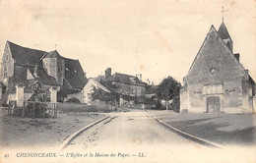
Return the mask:
<svg viewBox="0 0 256 163">
<path fill-rule="evenodd" d="M 116 104 L 116 101 L 119 97 L 119 94 L 116 92 L 107 92 L 100 88 L 96 88 L 96 86 L 94 86 L 94 91 L 90 95 L 92 100 L 104 101 L 105 103 L 110 104 L 111 109 L 112 106 Z"/>
</svg>

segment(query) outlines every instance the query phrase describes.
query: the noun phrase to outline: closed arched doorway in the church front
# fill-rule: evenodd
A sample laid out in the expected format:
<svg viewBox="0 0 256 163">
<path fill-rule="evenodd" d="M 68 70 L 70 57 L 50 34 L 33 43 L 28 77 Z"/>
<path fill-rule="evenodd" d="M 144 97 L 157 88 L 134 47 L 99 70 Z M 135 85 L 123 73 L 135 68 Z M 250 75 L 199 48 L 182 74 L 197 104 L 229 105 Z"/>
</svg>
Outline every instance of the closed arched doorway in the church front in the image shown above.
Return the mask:
<svg viewBox="0 0 256 163">
<path fill-rule="evenodd" d="M 207 112 L 219 113 L 221 109 L 221 99 L 219 96 L 207 97 Z"/>
</svg>

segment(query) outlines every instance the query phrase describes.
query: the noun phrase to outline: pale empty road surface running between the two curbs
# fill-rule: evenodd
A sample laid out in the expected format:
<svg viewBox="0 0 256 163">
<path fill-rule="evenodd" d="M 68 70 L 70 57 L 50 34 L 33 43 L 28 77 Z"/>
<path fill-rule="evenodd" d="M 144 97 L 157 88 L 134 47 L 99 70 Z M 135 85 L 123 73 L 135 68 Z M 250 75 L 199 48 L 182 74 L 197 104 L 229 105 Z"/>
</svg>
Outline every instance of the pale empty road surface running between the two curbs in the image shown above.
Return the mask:
<svg viewBox="0 0 256 163">
<path fill-rule="evenodd" d="M 144 110 L 110 113 L 110 118 L 77 136 L 67 147 L 74 148 L 144 148 L 146 146 L 202 146 L 161 126 Z"/>
</svg>

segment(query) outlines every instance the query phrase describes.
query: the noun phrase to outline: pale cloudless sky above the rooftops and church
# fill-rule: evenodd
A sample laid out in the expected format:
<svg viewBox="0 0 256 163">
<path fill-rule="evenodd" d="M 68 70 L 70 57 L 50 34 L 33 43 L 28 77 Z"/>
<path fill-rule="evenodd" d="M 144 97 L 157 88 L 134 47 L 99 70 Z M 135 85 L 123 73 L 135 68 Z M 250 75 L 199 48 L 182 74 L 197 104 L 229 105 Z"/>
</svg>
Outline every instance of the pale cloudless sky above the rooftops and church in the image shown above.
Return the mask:
<svg viewBox="0 0 256 163">
<path fill-rule="evenodd" d="M 0 55 L 7 40 L 79 59 L 87 77 L 142 74 L 158 84 L 187 72 L 210 27 L 224 24 L 256 81 L 256 1 L 0 0 Z"/>
</svg>

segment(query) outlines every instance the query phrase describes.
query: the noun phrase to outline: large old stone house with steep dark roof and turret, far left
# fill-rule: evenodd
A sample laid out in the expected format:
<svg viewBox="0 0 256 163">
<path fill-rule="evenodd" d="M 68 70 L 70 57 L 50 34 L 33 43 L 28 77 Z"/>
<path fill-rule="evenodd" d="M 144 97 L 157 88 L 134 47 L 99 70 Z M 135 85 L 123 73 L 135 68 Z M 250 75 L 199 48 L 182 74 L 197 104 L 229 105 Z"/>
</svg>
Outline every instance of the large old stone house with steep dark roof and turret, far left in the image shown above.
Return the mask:
<svg viewBox="0 0 256 163">
<path fill-rule="evenodd" d="M 55 87 L 62 96 L 77 93 L 88 81 L 79 60 L 51 52 L 31 49 L 7 41 L 1 61 L 2 98 L 12 100 L 16 85 L 24 85 L 25 100 L 32 95 L 32 84 L 42 83 L 42 89 Z"/>
</svg>

